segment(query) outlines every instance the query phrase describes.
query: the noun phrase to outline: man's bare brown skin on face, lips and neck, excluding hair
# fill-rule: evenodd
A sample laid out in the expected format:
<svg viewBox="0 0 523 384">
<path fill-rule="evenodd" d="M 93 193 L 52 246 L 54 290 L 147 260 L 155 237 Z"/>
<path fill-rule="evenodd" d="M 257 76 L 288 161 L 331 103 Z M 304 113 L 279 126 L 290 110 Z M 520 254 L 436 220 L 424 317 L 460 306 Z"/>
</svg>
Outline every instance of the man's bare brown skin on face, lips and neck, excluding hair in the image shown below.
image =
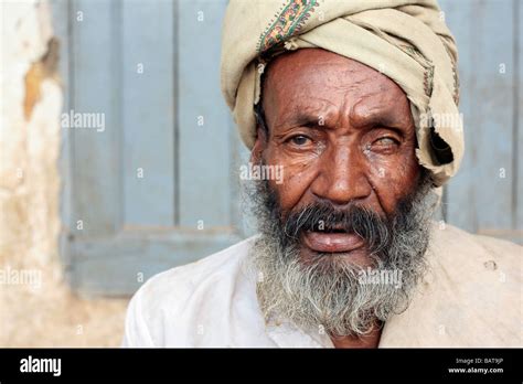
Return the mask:
<svg viewBox="0 0 523 384">
<path fill-rule="evenodd" d="M 267 68 L 263 107 L 269 134 L 258 127 L 252 161 L 284 167 L 284 182 L 270 186 L 285 215 L 318 201 L 393 214 L 416 188 L 420 166 L 409 102 L 380 72 L 320 49 L 286 53 Z M 317 249 L 307 238 L 301 244 L 306 263 Z M 364 244 L 335 249 L 350 263 L 371 263 Z M 375 327 L 365 338 L 331 339 L 337 348 L 376 348 L 380 337 Z"/>
</svg>

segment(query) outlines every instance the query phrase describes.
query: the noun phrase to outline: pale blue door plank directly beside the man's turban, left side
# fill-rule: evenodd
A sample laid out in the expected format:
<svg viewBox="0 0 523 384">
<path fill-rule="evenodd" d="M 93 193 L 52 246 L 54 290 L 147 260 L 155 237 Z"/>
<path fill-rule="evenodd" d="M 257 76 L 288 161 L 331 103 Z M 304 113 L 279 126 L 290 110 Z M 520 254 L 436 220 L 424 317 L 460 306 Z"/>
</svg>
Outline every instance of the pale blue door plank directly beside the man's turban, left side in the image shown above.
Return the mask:
<svg viewBox="0 0 523 384">
<path fill-rule="evenodd" d="M 180 1 L 178 60 L 180 225 L 233 224 L 228 109 L 220 90 L 225 0 Z"/>
</svg>

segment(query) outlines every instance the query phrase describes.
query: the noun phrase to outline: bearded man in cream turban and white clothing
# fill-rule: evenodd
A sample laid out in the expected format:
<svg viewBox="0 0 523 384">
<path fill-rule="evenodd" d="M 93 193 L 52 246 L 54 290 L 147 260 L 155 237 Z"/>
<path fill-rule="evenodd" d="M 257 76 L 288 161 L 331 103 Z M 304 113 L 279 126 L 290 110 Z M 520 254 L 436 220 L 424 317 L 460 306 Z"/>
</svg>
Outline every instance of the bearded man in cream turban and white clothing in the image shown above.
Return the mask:
<svg viewBox="0 0 523 384">
<path fill-rule="evenodd" d="M 258 236 L 150 279 L 130 346 L 522 344 L 522 249 L 431 222 L 458 170 L 453 38 L 431 0 L 231 1 L 222 88 Z"/>
</svg>

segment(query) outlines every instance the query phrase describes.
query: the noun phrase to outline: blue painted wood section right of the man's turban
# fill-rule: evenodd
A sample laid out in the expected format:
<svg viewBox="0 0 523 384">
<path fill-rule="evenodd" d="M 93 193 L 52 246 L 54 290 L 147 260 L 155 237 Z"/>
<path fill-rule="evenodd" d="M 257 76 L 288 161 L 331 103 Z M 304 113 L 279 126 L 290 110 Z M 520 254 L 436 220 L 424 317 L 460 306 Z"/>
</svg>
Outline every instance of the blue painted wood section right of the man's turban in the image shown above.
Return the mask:
<svg viewBox="0 0 523 384">
<path fill-rule="evenodd" d="M 523 4 L 440 0 L 456 36 L 466 154 L 445 195 L 448 222 L 523 244 Z"/>
</svg>

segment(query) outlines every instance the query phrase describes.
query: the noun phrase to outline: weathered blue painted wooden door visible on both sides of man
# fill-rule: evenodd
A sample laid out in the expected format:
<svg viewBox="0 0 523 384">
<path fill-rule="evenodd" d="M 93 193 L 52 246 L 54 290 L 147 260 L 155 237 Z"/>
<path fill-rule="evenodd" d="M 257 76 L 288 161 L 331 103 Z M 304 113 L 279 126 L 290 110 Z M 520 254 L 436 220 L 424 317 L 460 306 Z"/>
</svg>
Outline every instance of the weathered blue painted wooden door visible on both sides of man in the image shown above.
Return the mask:
<svg viewBox="0 0 523 384">
<path fill-rule="evenodd" d="M 243 149 L 220 94 L 226 0 L 53 0 L 64 111 L 62 257 L 73 288 L 128 295 L 246 236 Z M 522 6 L 441 1 L 460 49 L 467 151 L 444 218 L 521 242 Z M 249 230 L 247 228 L 247 232 Z"/>
</svg>

